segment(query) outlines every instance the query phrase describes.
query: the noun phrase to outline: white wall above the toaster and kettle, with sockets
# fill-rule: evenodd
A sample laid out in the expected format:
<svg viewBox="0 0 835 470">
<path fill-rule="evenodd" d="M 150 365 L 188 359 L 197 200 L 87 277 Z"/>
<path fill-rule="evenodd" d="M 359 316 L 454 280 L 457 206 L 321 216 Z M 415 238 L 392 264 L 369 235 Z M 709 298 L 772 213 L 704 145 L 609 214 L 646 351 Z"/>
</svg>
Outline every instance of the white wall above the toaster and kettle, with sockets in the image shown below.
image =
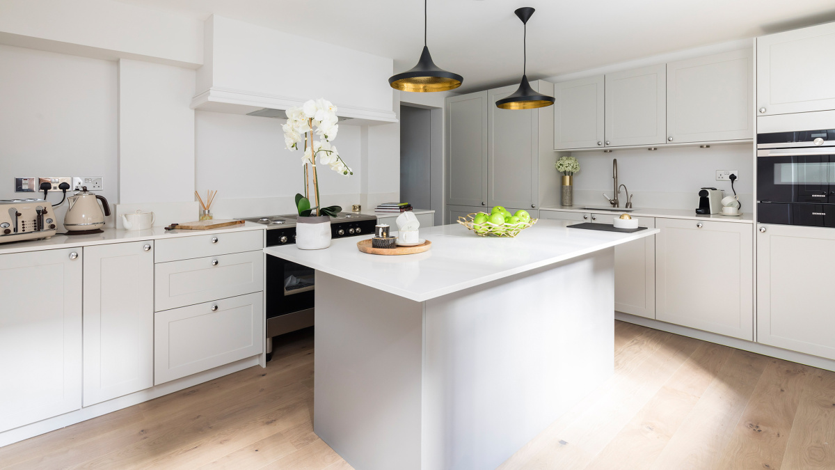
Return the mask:
<svg viewBox="0 0 835 470">
<path fill-rule="evenodd" d="M 103 176 L 117 202 L 116 90 L 114 62 L 0 45 L 0 198 L 37 197 L 14 176 Z"/>
</svg>

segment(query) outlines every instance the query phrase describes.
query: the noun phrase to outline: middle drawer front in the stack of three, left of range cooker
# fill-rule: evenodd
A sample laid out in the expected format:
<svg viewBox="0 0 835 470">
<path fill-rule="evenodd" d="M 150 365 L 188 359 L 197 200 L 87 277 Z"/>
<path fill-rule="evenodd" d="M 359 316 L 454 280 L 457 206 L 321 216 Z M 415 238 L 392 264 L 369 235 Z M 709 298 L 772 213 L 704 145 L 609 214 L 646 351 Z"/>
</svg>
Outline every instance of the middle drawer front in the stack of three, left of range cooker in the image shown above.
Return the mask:
<svg viewBox="0 0 835 470">
<path fill-rule="evenodd" d="M 261 291 L 264 289 L 263 256 L 263 252 L 256 251 L 157 263 L 154 310 Z"/>
</svg>

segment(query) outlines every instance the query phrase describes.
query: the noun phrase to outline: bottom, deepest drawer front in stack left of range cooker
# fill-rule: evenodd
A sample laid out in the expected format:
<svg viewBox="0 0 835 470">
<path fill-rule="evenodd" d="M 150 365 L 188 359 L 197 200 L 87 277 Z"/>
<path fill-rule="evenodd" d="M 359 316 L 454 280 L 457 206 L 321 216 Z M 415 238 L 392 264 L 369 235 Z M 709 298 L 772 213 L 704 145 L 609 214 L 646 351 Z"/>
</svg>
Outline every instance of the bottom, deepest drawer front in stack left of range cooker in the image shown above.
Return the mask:
<svg viewBox="0 0 835 470">
<path fill-rule="evenodd" d="M 260 292 L 157 312 L 154 385 L 261 354 L 263 344 Z"/>
</svg>

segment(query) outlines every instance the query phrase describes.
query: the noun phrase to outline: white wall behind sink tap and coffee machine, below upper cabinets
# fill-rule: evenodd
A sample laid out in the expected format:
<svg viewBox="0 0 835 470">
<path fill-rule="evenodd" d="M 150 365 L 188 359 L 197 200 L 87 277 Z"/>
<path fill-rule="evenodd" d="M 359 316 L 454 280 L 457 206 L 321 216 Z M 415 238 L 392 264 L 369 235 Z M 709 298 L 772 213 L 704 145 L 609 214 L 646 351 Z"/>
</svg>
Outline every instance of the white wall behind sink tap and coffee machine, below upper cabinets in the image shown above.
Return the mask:
<svg viewBox="0 0 835 470">
<path fill-rule="evenodd" d="M 696 209 L 697 192 L 712 186 L 731 192 L 730 181 L 716 181 L 716 170 L 737 170 L 736 192 L 740 194 L 742 210 L 751 210 L 753 201 L 754 156 L 751 144 L 711 146 L 710 148 L 670 147 L 657 151 L 645 148 L 574 152 L 580 171 L 574 176 L 574 205 L 607 206 L 602 193 L 613 196 L 612 159 L 618 160 L 618 183 L 625 184 L 630 194 L 635 192 L 635 207 L 664 209 Z M 554 161 L 558 156 L 554 155 Z M 551 166 L 553 168 L 553 165 Z M 554 185 L 559 185 L 559 173 L 554 169 Z M 621 193 L 620 206 L 625 205 Z"/>
</svg>

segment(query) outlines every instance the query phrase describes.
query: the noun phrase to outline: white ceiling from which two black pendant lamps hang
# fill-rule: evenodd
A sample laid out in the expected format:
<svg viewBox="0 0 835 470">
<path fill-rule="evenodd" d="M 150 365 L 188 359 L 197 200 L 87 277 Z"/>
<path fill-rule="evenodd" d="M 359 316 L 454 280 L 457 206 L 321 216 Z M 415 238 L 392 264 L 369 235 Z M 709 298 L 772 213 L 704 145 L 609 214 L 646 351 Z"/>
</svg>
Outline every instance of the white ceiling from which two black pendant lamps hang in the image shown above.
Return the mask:
<svg viewBox="0 0 835 470">
<path fill-rule="evenodd" d="M 120 1 L 340 44 L 390 57 L 396 72 L 412 68 L 423 47 L 420 0 Z M 518 82 L 514 9 L 525 6 L 537 10 L 528 23 L 530 79 L 835 20 L 832 0 L 429 0 L 435 63 L 463 75 L 461 91 Z"/>
</svg>

